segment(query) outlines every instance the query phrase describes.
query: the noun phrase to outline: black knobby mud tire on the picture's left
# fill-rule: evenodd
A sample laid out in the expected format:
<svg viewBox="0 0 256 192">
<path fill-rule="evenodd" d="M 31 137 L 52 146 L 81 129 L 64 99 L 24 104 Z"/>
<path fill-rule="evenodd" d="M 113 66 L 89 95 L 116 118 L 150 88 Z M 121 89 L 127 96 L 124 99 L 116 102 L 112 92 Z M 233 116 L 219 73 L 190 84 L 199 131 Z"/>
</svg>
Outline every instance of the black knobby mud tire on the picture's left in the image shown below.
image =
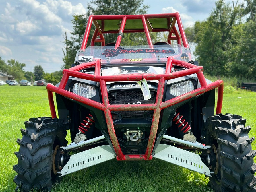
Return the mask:
<svg viewBox="0 0 256 192">
<path fill-rule="evenodd" d="M 24 124 L 22 139 L 17 139 L 20 149 L 15 152 L 18 164 L 13 166 L 16 191 L 51 191 L 61 178 L 53 173 L 53 152 L 57 145 L 67 145 L 67 131 L 61 119 L 51 117 L 31 118 Z"/>
</svg>

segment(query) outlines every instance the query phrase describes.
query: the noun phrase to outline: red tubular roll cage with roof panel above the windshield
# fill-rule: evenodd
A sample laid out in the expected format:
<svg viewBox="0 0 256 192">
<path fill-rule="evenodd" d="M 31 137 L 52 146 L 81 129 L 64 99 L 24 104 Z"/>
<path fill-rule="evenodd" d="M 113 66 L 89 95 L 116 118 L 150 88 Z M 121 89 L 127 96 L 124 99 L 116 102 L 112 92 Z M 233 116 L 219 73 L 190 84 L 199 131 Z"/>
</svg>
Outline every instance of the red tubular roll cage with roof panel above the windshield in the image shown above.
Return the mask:
<svg viewBox="0 0 256 192">
<path fill-rule="evenodd" d="M 176 22 L 180 35 L 175 26 Z M 91 46 L 94 46 L 95 42 L 101 42 L 101 45 L 104 46 L 105 39 L 103 34 L 105 33 L 118 33 L 115 44 L 115 48 L 117 48 L 120 46 L 123 33 L 145 32 L 148 45 L 153 47 L 150 32 L 169 32 L 167 38 L 169 44 L 171 44 L 171 40 L 177 40 L 177 44 L 181 44 L 182 40 L 183 46 L 189 47 L 179 13 L 177 12 L 149 15 L 90 15 L 81 49 L 86 48 L 92 23 L 96 29 L 91 40 Z"/>
</svg>

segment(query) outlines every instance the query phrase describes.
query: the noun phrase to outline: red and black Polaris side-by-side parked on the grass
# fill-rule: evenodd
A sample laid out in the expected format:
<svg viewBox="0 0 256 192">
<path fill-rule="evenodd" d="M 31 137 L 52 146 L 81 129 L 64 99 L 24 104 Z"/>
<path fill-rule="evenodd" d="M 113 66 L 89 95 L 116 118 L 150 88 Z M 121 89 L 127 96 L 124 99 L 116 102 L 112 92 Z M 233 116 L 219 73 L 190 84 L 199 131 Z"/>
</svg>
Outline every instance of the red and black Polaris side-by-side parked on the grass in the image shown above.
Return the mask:
<svg viewBox="0 0 256 192">
<path fill-rule="evenodd" d="M 152 42 L 155 32 L 166 41 Z M 128 33 L 143 33 L 148 44 L 122 44 Z M 116 41 L 105 42 L 108 34 Z M 59 84 L 46 86 L 51 117 L 21 129 L 17 190 L 50 191 L 61 176 L 111 159 L 153 158 L 204 174 L 215 191 L 256 190 L 251 127 L 221 113 L 223 81 L 205 79 L 179 13 L 91 15 L 74 59 Z"/>
</svg>

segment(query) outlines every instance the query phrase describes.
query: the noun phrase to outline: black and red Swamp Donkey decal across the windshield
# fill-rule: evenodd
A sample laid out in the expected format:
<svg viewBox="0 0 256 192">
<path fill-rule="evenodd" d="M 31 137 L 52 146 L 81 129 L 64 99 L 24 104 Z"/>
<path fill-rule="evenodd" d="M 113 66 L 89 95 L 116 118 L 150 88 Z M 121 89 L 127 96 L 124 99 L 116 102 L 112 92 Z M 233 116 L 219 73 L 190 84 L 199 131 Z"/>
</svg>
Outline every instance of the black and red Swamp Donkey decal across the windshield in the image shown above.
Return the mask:
<svg viewBox="0 0 256 192">
<path fill-rule="evenodd" d="M 106 49 L 102 55 L 105 57 L 114 57 L 118 54 L 130 54 L 130 53 L 171 53 L 174 54 L 174 49 Z"/>
</svg>

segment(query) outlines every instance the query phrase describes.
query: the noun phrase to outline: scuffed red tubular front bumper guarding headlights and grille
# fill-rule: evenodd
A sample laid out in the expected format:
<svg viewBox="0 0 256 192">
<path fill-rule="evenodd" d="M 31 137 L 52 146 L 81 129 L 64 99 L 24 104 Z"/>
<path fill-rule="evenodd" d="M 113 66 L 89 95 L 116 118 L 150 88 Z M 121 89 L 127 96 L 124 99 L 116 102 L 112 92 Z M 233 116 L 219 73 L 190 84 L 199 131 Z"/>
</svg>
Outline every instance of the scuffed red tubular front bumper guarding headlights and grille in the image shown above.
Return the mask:
<svg viewBox="0 0 256 192">
<path fill-rule="evenodd" d="M 175 73 L 170 73 L 170 68 L 171 68 L 172 64 L 186 67 L 187 69 L 182 70 L 182 71 L 177 71 Z M 92 66 L 95 66 L 95 75 L 79 72 L 81 69 L 84 69 L 87 67 L 92 67 Z M 52 92 L 55 92 L 57 94 L 66 96 L 73 100 L 84 103 L 88 106 L 92 106 L 94 108 L 104 111 L 110 139 L 111 139 L 113 147 L 115 149 L 115 153 L 117 154 L 117 160 L 150 160 L 150 159 L 152 159 L 152 150 L 153 150 L 154 142 L 156 139 L 156 132 L 158 129 L 160 112 L 164 108 L 167 108 L 169 106 L 172 106 L 174 104 L 177 104 L 179 102 L 187 100 L 189 98 L 193 98 L 197 95 L 203 94 L 207 91 L 210 91 L 210 90 L 218 87 L 218 101 L 217 101 L 216 113 L 221 113 L 223 81 L 217 80 L 215 82 L 207 84 L 207 82 L 204 78 L 204 75 L 203 75 L 203 67 L 202 66 L 195 66 L 190 63 L 175 60 L 175 59 L 172 59 L 171 57 L 168 57 L 167 62 L 166 62 L 166 73 L 165 74 L 158 74 L 158 75 L 156 75 L 156 74 L 153 74 L 153 75 L 152 74 L 132 74 L 132 75 L 101 76 L 100 68 L 101 68 L 100 60 L 96 59 L 96 61 L 92 61 L 89 63 L 83 63 L 78 66 L 72 67 L 70 69 L 64 69 L 63 77 L 61 79 L 59 87 L 56 87 L 50 83 L 47 84 L 47 86 L 46 86 L 46 88 L 48 90 L 49 105 L 50 105 L 51 115 L 53 118 L 55 118 L 56 111 L 55 111 L 54 101 L 53 101 L 53 96 L 52 96 Z M 186 94 L 183 94 L 183 95 L 177 96 L 175 98 L 172 98 L 170 100 L 162 102 L 165 80 L 175 79 L 177 77 L 183 77 L 185 75 L 191 75 L 191 74 L 197 74 L 198 80 L 201 84 L 201 88 L 195 89 Z M 84 98 L 84 97 L 77 95 L 73 92 L 69 92 L 69 91 L 65 90 L 64 88 L 67 84 L 69 76 L 100 82 L 102 103 L 93 101 L 88 98 Z M 106 82 L 109 82 L 109 81 L 138 81 L 138 80 L 142 79 L 142 76 L 147 81 L 148 80 L 158 80 L 159 81 L 156 102 L 154 104 L 140 104 L 140 105 L 110 105 L 109 104 Z M 150 130 L 150 136 L 149 136 L 149 140 L 148 140 L 148 146 L 146 148 L 146 153 L 144 155 L 124 155 L 123 154 L 123 152 L 121 151 L 120 145 L 118 143 L 116 134 L 115 134 L 113 119 L 111 116 L 111 111 L 113 111 L 113 110 L 115 110 L 115 111 L 154 110 L 152 125 L 151 125 L 151 130 Z"/>
</svg>

